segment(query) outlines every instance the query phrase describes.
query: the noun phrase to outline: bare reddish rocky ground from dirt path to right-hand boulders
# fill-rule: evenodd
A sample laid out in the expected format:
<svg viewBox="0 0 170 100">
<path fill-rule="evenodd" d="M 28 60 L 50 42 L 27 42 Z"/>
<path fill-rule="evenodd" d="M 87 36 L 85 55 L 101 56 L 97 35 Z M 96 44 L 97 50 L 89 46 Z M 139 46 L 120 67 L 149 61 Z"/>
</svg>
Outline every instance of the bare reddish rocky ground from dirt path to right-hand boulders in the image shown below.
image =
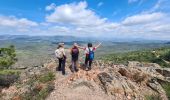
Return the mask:
<svg viewBox="0 0 170 100">
<path fill-rule="evenodd" d="M 161 85 L 153 81 L 165 79 L 156 68 L 159 65 L 153 63 L 130 62 L 125 66 L 96 61 L 91 71 L 79 68 L 71 73 L 66 69 L 67 76 L 57 73 L 55 90 L 47 100 L 144 100 L 150 95 L 168 100 Z"/>
</svg>

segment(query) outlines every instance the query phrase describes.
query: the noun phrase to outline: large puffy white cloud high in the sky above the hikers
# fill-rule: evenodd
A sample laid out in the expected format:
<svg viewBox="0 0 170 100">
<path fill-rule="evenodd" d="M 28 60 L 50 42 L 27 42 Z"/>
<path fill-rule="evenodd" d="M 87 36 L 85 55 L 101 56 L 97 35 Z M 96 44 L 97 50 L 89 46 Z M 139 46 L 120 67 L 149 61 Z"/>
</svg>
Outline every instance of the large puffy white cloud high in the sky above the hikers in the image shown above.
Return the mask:
<svg viewBox="0 0 170 100">
<path fill-rule="evenodd" d="M 106 18 L 100 18 L 90 9 L 86 2 L 57 6 L 55 11 L 46 16 L 48 22 L 70 24 L 76 26 L 96 26 L 105 23 Z"/>
</svg>

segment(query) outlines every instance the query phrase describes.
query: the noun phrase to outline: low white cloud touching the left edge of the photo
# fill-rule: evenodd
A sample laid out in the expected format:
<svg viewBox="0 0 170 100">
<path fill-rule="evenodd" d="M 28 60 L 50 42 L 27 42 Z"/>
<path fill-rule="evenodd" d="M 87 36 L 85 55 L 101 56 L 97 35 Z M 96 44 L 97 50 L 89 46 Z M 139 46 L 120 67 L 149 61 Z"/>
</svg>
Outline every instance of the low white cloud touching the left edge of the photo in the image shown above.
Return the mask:
<svg viewBox="0 0 170 100">
<path fill-rule="evenodd" d="M 37 22 L 15 16 L 0 16 L 0 34 L 27 34 L 38 27 Z"/>
</svg>

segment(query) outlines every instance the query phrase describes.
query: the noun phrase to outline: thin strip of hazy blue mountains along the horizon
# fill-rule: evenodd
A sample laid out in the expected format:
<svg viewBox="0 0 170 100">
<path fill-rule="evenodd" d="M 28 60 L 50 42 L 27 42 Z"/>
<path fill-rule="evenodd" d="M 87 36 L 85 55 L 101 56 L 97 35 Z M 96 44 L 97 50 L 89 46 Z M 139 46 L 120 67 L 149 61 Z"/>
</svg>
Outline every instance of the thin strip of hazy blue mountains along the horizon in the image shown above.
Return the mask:
<svg viewBox="0 0 170 100">
<path fill-rule="evenodd" d="M 86 41 L 86 42 L 133 42 L 133 43 L 165 43 L 163 40 L 147 40 L 142 38 L 105 38 L 105 37 L 76 37 L 76 36 L 28 36 L 28 35 L 0 35 L 0 41 L 10 40 L 19 42 L 73 42 L 73 41 Z M 169 44 L 169 42 L 167 42 Z"/>
</svg>

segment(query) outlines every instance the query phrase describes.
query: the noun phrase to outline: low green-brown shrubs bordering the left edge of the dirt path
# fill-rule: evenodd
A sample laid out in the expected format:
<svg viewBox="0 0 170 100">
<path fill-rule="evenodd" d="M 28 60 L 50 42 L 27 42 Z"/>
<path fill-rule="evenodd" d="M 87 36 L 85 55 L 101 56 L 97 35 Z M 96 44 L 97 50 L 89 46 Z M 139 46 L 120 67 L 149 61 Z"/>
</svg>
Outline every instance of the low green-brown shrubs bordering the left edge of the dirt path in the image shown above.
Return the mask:
<svg viewBox="0 0 170 100">
<path fill-rule="evenodd" d="M 26 84 L 29 91 L 21 94 L 20 97 L 23 100 L 45 100 L 54 89 L 54 79 L 55 74 L 53 72 L 32 76 Z"/>
</svg>

